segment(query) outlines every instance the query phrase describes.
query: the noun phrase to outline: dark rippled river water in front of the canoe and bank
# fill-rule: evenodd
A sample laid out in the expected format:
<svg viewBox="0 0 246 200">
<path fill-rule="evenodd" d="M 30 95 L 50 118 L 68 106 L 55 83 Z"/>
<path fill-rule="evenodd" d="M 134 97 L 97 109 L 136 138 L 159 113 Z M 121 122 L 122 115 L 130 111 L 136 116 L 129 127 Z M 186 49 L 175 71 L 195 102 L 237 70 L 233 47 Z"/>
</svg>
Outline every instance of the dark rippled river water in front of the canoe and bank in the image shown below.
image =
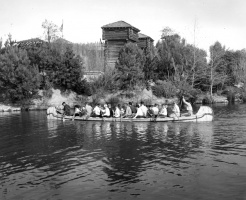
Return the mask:
<svg viewBox="0 0 246 200">
<path fill-rule="evenodd" d="M 0 114 L 0 199 L 246 199 L 246 105 L 211 123 Z"/>
</svg>

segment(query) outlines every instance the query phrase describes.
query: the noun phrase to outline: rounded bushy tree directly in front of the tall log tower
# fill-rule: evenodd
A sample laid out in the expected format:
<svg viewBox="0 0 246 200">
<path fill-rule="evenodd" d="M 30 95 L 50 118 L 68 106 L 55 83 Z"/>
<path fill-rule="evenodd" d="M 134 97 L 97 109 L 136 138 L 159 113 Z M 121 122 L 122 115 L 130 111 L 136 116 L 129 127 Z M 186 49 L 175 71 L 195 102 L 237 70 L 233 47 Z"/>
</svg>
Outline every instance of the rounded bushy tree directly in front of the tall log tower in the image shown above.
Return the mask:
<svg viewBox="0 0 246 200">
<path fill-rule="evenodd" d="M 133 89 L 144 81 L 143 67 L 145 57 L 136 44 L 127 43 L 119 52 L 119 59 L 115 65 L 115 73 L 120 89 Z"/>
</svg>

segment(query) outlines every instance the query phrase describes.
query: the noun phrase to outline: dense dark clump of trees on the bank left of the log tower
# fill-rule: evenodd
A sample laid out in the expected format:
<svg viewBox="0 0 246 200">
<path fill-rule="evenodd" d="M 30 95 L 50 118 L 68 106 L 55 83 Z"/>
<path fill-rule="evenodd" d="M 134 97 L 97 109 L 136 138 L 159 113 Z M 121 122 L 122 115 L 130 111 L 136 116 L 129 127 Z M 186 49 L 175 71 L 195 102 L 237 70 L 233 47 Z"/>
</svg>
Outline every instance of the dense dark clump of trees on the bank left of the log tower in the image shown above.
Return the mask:
<svg viewBox="0 0 246 200">
<path fill-rule="evenodd" d="M 30 99 L 39 89 L 51 87 L 81 91 L 83 62 L 71 46 L 56 43 L 11 46 L 0 51 L 0 88 L 2 99 Z"/>
</svg>

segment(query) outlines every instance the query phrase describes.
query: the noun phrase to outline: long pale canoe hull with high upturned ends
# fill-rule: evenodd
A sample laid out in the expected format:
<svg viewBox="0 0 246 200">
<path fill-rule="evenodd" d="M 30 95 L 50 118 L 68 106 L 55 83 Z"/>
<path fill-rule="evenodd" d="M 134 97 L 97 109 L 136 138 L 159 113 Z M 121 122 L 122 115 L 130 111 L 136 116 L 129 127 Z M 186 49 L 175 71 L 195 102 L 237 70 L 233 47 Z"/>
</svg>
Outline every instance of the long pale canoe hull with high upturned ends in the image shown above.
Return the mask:
<svg viewBox="0 0 246 200">
<path fill-rule="evenodd" d="M 100 118 L 100 117 L 62 117 L 56 112 L 55 107 L 47 109 L 48 119 L 77 120 L 77 121 L 107 121 L 107 122 L 209 122 L 213 121 L 213 110 L 208 106 L 201 106 L 198 112 L 192 116 L 165 117 L 165 118 Z"/>
</svg>

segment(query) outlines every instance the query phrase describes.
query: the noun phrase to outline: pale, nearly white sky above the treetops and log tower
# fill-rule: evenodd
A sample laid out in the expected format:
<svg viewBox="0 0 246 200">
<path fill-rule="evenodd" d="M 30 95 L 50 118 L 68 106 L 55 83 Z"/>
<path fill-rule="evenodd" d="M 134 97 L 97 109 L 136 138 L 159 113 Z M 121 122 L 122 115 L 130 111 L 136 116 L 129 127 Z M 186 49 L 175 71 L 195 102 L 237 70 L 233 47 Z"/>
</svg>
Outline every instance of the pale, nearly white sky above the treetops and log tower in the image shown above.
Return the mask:
<svg viewBox="0 0 246 200">
<path fill-rule="evenodd" d="M 219 41 L 227 49 L 246 48 L 245 0 L 0 0 L 0 38 L 42 37 L 47 19 L 75 43 L 99 42 L 103 25 L 125 21 L 155 43 L 170 27 L 208 51 Z"/>
</svg>

